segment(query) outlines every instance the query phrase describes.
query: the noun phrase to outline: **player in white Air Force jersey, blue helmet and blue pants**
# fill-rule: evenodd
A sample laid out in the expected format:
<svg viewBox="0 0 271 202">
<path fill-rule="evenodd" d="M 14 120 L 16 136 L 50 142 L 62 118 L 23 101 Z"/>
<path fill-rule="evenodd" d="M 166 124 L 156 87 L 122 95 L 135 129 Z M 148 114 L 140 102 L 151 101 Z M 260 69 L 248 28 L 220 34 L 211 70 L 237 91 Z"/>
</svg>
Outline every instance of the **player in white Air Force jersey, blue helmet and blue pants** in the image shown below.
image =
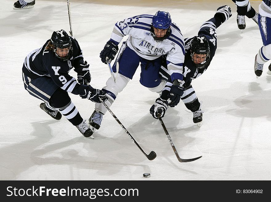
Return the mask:
<svg viewBox="0 0 271 202">
<path fill-rule="evenodd" d="M 172 81 L 181 81 L 183 78 L 184 38 L 180 28 L 172 23 L 168 12 L 159 10 L 155 15 L 143 14 L 117 22 L 110 40 L 100 53 L 103 63 L 110 63 L 115 58 L 118 44 L 125 35 L 128 35 L 128 39 L 123 42 L 112 67 L 114 72 L 116 66 L 119 67 L 117 80 L 114 82 L 111 76 L 102 89 L 107 94 L 108 107 L 133 78 L 139 64 L 140 83 L 152 92 L 160 93 L 166 83 L 159 75 L 162 56 L 165 54 L 168 55 L 167 64 Z M 95 104 L 89 124 L 99 129 L 106 111 L 103 104 Z"/>
</svg>

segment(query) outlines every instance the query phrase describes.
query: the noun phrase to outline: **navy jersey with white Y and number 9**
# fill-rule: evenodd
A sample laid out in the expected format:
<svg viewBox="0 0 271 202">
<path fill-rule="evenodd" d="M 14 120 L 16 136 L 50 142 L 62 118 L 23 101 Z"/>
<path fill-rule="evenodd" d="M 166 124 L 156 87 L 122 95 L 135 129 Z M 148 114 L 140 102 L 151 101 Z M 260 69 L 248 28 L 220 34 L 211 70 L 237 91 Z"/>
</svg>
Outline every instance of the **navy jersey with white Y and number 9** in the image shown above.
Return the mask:
<svg viewBox="0 0 271 202">
<path fill-rule="evenodd" d="M 25 60 L 23 73 L 29 79 L 36 79 L 41 76 L 51 77 L 57 86 L 63 90 L 73 93 L 75 95 L 81 94 L 86 85 L 79 84 L 76 79 L 69 75 L 69 71 L 74 67 L 75 69 L 84 64 L 82 50 L 75 38 L 70 37 L 72 42 L 73 54 L 71 59 L 61 61 L 55 55 L 54 51 L 47 50 L 47 42 L 39 49 L 30 52 Z"/>
</svg>

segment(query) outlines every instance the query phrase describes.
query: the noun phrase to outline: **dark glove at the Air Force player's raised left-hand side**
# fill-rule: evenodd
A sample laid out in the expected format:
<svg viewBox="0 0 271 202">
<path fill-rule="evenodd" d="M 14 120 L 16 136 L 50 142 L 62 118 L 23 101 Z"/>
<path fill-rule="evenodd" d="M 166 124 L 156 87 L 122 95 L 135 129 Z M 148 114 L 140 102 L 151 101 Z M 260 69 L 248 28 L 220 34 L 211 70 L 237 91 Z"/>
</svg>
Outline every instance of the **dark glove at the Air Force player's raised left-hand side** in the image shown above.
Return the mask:
<svg viewBox="0 0 271 202">
<path fill-rule="evenodd" d="M 102 59 L 102 62 L 107 64 L 106 61 L 108 60 L 108 63 L 111 63 L 111 61 L 114 60 L 118 50 L 118 45 L 116 45 L 112 41 L 108 41 L 100 53 L 100 58 Z"/>
</svg>

